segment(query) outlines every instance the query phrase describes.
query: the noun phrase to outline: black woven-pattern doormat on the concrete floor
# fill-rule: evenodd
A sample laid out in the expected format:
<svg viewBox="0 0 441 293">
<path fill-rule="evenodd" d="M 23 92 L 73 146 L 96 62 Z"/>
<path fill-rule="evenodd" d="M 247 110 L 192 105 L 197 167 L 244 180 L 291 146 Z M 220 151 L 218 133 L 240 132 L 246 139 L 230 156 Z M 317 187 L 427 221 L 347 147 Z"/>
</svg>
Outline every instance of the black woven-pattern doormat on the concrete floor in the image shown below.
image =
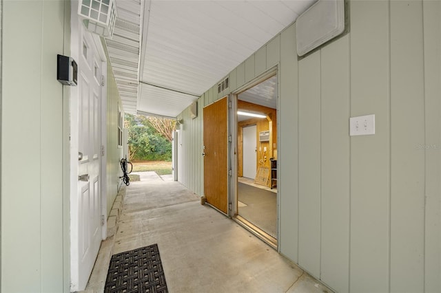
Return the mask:
<svg viewBox="0 0 441 293">
<path fill-rule="evenodd" d="M 167 293 L 158 244 L 112 255 L 104 292 Z"/>
</svg>

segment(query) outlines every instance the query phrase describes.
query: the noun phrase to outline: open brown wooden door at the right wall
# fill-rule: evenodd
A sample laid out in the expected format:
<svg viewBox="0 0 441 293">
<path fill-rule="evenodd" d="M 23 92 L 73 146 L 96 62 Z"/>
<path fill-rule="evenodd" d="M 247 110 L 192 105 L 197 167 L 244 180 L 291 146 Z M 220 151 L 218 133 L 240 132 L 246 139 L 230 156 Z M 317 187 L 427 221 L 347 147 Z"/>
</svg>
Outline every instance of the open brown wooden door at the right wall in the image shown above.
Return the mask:
<svg viewBox="0 0 441 293">
<path fill-rule="evenodd" d="M 228 100 L 204 107 L 204 194 L 207 203 L 227 213 L 228 197 Z"/>
</svg>

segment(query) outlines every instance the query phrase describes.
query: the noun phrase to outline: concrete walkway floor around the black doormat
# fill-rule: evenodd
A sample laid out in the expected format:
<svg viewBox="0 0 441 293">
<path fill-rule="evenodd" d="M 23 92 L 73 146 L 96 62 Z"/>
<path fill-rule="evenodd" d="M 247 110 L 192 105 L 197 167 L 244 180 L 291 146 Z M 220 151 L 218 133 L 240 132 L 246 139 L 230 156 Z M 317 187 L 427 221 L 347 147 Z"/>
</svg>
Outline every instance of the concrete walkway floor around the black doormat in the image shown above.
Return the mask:
<svg viewBox="0 0 441 293">
<path fill-rule="evenodd" d="M 169 292 L 332 292 L 232 219 L 173 182 L 131 182 L 116 234 L 103 241 L 85 292 L 103 292 L 112 254 L 158 243 Z"/>
</svg>

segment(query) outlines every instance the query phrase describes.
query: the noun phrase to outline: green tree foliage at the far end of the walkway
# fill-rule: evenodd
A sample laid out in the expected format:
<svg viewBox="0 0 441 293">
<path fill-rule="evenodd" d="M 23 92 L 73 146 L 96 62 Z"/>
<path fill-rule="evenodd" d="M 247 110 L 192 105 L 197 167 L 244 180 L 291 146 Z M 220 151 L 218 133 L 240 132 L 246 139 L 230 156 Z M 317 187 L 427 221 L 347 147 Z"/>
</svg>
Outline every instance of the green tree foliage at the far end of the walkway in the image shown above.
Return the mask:
<svg viewBox="0 0 441 293">
<path fill-rule="evenodd" d="M 171 161 L 172 142 L 156 131 L 145 116 L 125 114 L 129 130 L 129 159 L 131 161 Z"/>
</svg>

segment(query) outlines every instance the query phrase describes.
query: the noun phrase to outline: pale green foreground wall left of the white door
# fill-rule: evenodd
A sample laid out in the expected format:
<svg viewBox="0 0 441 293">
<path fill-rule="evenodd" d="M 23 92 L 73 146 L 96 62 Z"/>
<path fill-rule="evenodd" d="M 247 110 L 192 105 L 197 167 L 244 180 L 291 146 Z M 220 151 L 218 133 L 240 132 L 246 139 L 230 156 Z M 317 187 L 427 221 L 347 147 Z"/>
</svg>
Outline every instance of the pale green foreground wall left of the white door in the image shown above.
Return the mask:
<svg viewBox="0 0 441 293">
<path fill-rule="evenodd" d="M 0 291 L 69 292 L 70 3 L 2 4 Z"/>
</svg>

